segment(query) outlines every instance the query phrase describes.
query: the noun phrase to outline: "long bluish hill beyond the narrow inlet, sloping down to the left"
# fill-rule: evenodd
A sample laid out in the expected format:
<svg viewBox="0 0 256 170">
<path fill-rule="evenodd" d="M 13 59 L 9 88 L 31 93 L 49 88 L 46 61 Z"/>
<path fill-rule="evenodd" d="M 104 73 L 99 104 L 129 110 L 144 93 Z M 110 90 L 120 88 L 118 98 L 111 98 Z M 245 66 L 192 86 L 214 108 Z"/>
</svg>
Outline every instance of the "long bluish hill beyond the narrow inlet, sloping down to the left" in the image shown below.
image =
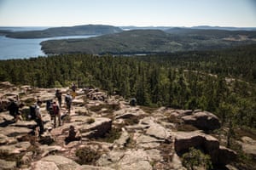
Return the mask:
<svg viewBox="0 0 256 170">
<path fill-rule="evenodd" d="M 84 36 L 84 35 L 104 35 L 122 31 L 119 27 L 103 25 L 86 25 L 71 27 L 53 27 L 42 31 L 14 31 L 6 35 L 13 38 L 44 38 L 62 36 Z"/>
</svg>

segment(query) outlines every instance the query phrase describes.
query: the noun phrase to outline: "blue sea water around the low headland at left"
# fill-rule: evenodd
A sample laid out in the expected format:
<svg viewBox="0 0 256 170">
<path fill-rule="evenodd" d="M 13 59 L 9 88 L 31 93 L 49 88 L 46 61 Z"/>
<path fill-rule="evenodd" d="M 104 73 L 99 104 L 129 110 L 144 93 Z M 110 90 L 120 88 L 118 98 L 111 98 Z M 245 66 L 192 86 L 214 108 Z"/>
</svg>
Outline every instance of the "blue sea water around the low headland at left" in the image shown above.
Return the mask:
<svg viewBox="0 0 256 170">
<path fill-rule="evenodd" d="M 43 30 L 46 27 L 0 27 L 0 30 L 10 31 L 31 31 Z M 68 38 L 88 38 L 90 36 L 69 36 L 69 37 L 50 37 L 50 38 L 33 38 L 18 39 L 0 36 L 0 59 L 28 59 L 38 56 L 46 56 L 41 50 L 40 42 L 52 39 L 68 39 Z"/>
</svg>

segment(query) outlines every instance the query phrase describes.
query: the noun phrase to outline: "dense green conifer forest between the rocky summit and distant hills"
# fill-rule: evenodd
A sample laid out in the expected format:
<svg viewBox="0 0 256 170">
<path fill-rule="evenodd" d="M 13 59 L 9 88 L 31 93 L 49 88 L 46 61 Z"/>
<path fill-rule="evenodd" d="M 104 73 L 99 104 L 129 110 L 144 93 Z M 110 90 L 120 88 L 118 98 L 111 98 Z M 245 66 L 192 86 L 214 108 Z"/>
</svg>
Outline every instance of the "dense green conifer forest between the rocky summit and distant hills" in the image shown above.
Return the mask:
<svg viewBox="0 0 256 170">
<path fill-rule="evenodd" d="M 0 61 L 0 80 L 39 88 L 96 87 L 139 105 L 212 111 L 256 127 L 256 45 L 117 57 L 63 54 Z"/>
</svg>

